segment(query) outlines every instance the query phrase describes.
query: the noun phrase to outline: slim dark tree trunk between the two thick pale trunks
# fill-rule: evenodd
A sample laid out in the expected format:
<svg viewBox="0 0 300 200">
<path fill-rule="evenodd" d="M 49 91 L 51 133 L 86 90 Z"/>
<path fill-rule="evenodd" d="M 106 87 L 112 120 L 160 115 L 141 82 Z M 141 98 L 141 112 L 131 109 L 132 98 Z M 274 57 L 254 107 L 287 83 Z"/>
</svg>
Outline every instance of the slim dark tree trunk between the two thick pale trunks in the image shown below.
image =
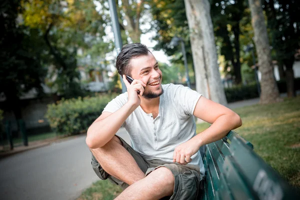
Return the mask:
<svg viewBox="0 0 300 200">
<path fill-rule="evenodd" d="M 234 48 L 235 48 L 235 59 L 236 62 L 234 64 L 234 75 L 235 75 L 235 83 L 241 83 L 241 74 L 240 74 L 240 61 L 239 61 L 239 22 L 236 23 L 235 26 L 232 27 L 234 34 Z"/>
</svg>

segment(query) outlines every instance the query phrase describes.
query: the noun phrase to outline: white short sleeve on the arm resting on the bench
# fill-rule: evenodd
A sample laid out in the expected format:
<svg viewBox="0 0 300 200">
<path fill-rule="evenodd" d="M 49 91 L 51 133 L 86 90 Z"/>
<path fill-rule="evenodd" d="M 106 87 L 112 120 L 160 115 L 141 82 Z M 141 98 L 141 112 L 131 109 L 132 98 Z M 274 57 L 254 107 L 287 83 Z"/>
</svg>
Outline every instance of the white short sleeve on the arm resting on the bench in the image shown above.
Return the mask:
<svg viewBox="0 0 300 200">
<path fill-rule="evenodd" d="M 174 90 L 174 103 L 179 113 L 192 115 L 202 94 L 183 85 L 176 85 Z"/>
</svg>

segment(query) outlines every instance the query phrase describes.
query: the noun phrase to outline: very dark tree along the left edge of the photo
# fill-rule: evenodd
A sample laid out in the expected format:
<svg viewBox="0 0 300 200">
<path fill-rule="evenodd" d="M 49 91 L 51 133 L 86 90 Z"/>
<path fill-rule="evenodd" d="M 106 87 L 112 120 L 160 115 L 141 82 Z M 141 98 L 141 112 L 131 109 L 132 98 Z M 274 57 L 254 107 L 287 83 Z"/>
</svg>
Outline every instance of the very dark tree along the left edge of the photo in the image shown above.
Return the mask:
<svg viewBox="0 0 300 200">
<path fill-rule="evenodd" d="M 21 119 L 20 96 L 35 89 L 42 92 L 45 68 L 40 59 L 44 42 L 34 29 L 17 23 L 23 9 L 19 0 L 5 0 L 0 7 L 0 92 L 4 92 L 6 107 Z"/>
</svg>

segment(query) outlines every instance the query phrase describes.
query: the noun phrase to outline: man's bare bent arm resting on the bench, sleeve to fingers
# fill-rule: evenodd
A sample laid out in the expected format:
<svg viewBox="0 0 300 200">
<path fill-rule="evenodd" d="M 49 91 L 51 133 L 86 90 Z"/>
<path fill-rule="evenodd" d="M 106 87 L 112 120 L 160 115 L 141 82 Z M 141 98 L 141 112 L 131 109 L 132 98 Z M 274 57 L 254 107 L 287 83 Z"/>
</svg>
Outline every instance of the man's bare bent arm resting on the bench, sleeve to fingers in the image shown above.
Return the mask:
<svg viewBox="0 0 300 200">
<path fill-rule="evenodd" d="M 219 140 L 230 130 L 241 126 L 238 114 L 204 96 L 201 96 L 196 103 L 193 115 L 211 125 L 188 141 L 178 145 L 173 153 L 174 162 L 181 164 L 191 162 L 190 157 L 198 151 L 200 146 Z"/>
</svg>

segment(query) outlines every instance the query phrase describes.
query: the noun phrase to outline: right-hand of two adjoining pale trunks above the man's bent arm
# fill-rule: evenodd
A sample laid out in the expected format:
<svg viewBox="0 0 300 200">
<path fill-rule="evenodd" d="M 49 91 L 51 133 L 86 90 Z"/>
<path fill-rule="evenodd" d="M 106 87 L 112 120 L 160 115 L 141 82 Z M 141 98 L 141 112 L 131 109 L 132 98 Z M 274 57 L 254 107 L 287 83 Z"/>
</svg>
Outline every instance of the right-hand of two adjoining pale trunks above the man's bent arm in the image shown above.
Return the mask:
<svg viewBox="0 0 300 200">
<path fill-rule="evenodd" d="M 195 7 L 195 9 L 200 15 L 200 27 L 203 34 L 205 59 L 207 57 L 206 63 L 211 100 L 226 106 L 227 100 L 217 64 L 217 52 L 210 17 L 210 4 L 208 0 L 197 1 L 198 3 L 196 4 L 197 7 Z"/>
</svg>

